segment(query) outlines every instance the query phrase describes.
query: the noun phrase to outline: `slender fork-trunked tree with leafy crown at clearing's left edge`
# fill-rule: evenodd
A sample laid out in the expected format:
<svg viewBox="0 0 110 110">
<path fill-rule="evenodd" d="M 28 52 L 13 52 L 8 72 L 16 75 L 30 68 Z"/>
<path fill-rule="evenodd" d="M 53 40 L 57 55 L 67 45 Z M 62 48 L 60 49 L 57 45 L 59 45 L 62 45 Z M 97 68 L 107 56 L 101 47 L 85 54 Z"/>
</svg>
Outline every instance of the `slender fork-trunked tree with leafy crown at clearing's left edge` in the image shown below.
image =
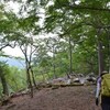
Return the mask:
<svg viewBox="0 0 110 110">
<path fill-rule="evenodd" d="M 4 1 L 6 3 L 6 1 Z M 19 3 L 19 2 L 18 2 Z M 3 36 L 3 43 L 6 41 L 8 43 L 14 43 L 14 46 L 19 46 L 24 54 L 25 58 L 25 64 L 26 64 L 26 75 L 28 75 L 28 85 L 31 88 L 31 96 L 33 97 L 33 87 L 32 87 L 32 81 L 35 85 L 35 79 L 34 79 L 34 74 L 32 69 L 32 54 L 35 52 L 35 46 L 33 44 L 32 36 L 37 34 L 40 31 L 38 30 L 38 15 L 36 14 L 36 10 L 32 11 L 32 6 L 29 6 L 28 2 L 25 1 L 22 2 L 22 4 L 19 14 L 12 13 L 9 16 L 8 12 L 8 23 L 10 24 L 7 30 L 6 30 L 6 24 L 7 21 L 4 21 L 4 30 L 1 32 L 4 34 Z M 25 13 L 25 16 L 24 16 Z M 10 22 L 9 22 L 10 21 Z M 14 21 L 14 22 L 13 22 Z M 31 37 L 29 36 L 31 35 Z M 30 47 L 29 47 L 30 46 Z M 30 51 L 30 52 L 29 52 Z"/>
</svg>

